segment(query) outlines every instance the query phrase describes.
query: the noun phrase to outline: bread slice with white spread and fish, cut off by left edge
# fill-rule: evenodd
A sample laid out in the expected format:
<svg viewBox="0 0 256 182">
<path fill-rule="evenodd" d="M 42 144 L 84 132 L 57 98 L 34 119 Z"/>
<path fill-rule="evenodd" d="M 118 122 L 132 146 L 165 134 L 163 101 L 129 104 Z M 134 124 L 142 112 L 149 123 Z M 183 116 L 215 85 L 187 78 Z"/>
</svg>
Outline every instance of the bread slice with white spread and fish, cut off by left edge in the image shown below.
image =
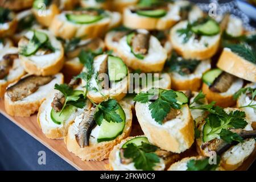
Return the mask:
<svg viewBox="0 0 256 182">
<path fill-rule="evenodd" d="M 0 51 L 0 60 L 3 59 L 3 56 L 7 54 L 18 54 L 18 49 L 16 47 L 10 47 Z M 13 65 L 8 73 L 8 75 L 0 80 L 0 97 L 3 97 L 6 91 L 6 87 L 12 82 L 18 81 L 26 72 L 24 71 L 22 64 L 19 59 L 13 60 Z"/>
</svg>

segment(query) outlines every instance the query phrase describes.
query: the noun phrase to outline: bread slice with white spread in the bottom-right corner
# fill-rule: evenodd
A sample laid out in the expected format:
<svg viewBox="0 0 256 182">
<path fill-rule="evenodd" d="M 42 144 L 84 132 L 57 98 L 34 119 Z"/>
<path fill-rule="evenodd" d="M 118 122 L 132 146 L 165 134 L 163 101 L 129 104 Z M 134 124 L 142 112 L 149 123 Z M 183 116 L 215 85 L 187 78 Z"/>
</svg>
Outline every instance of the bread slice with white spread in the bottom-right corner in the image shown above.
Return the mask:
<svg viewBox="0 0 256 182">
<path fill-rule="evenodd" d="M 246 139 L 243 143 L 229 148 L 221 156 L 221 166 L 229 171 L 236 170 L 253 153 L 255 148 L 255 139 Z"/>
</svg>

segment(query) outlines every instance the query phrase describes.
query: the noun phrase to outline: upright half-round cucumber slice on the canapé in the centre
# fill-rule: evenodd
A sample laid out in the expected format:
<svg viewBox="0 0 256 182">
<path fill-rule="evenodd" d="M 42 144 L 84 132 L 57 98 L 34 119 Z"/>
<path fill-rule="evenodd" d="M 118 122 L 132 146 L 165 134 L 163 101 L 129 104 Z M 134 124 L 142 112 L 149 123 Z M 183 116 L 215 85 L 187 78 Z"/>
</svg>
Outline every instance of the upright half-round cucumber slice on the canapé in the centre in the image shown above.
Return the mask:
<svg viewBox="0 0 256 182">
<path fill-rule="evenodd" d="M 127 75 L 127 67 L 119 57 L 108 57 L 108 73 L 110 81 L 121 81 Z"/>
</svg>

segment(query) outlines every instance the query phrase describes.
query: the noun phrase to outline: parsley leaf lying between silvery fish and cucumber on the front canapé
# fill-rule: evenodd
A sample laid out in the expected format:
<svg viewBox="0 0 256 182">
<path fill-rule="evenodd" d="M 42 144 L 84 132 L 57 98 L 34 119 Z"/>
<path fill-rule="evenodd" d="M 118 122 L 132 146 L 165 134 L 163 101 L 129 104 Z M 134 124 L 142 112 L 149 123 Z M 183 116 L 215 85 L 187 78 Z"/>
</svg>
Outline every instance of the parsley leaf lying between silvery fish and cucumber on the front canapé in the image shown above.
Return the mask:
<svg viewBox="0 0 256 182">
<path fill-rule="evenodd" d="M 100 126 L 103 119 L 105 119 L 108 122 L 122 122 L 122 118 L 116 112 L 119 109 L 119 107 L 120 106 L 118 102 L 113 99 L 109 99 L 97 105 L 97 111 L 94 115 L 97 125 Z"/>
</svg>

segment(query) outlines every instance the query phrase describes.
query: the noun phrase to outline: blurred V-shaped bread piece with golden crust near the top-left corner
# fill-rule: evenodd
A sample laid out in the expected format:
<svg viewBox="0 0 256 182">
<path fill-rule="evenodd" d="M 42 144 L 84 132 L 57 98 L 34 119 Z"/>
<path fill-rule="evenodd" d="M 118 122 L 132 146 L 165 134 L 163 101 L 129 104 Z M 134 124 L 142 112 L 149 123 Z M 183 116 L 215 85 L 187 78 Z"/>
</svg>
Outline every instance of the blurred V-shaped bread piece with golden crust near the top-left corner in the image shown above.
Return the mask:
<svg viewBox="0 0 256 182">
<path fill-rule="evenodd" d="M 60 10 L 56 4 L 52 3 L 44 12 L 35 8 L 32 9 L 32 12 L 42 26 L 49 27 L 53 22 L 53 18 L 60 13 Z"/>
</svg>

